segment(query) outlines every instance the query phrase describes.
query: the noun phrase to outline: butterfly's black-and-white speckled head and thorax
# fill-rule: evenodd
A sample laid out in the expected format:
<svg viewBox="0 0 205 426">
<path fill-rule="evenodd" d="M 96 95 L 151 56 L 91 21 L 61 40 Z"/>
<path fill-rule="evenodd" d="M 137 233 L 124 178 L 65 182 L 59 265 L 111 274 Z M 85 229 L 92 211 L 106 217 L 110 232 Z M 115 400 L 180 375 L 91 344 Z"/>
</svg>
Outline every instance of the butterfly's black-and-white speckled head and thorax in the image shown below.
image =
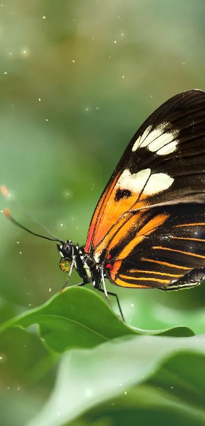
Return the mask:
<svg viewBox="0 0 205 426">
<path fill-rule="evenodd" d="M 61 255 L 59 266 L 62 271 L 71 274 L 75 267 L 84 284 L 90 282 L 98 288 L 101 282 L 101 270 L 92 258 L 85 253 L 84 247 L 74 245 L 72 241 L 66 240 L 64 244 L 58 245 L 57 249 Z"/>
</svg>

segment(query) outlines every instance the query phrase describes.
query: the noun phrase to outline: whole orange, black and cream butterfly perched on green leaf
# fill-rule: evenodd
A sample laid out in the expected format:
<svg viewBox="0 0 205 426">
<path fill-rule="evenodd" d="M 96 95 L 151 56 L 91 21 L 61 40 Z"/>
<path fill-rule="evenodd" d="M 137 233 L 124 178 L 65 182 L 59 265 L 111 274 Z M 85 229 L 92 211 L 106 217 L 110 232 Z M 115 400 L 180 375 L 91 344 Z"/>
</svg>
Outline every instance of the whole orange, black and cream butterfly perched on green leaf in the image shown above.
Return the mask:
<svg viewBox="0 0 205 426">
<path fill-rule="evenodd" d="M 7 215 L 8 216 L 8 215 Z M 173 96 L 144 121 L 94 211 L 85 246 L 58 240 L 79 286 L 179 290 L 205 278 L 205 93 Z M 118 296 L 116 296 L 123 318 Z"/>
</svg>

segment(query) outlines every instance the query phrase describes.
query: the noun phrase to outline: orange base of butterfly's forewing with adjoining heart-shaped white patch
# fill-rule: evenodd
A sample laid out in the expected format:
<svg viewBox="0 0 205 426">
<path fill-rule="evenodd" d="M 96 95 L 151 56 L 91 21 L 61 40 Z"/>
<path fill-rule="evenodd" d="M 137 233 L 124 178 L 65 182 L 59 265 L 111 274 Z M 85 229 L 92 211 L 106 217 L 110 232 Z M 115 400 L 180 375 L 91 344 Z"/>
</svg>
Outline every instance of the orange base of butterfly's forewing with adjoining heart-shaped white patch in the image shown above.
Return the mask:
<svg viewBox="0 0 205 426">
<path fill-rule="evenodd" d="M 95 247 L 110 228 L 131 209 L 149 206 L 149 197 L 171 186 L 173 178 L 166 173 L 151 173 L 151 169 L 131 173 L 125 169 L 105 190 L 94 213 L 85 252 Z"/>
</svg>

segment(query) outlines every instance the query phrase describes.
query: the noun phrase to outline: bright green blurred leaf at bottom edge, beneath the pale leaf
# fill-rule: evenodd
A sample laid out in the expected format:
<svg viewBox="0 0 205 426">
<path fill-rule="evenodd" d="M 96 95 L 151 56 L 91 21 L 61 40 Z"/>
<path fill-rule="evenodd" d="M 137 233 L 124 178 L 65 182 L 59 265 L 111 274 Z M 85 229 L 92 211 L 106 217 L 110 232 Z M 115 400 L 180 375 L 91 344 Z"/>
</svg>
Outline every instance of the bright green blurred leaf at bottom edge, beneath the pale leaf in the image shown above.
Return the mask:
<svg viewBox="0 0 205 426">
<path fill-rule="evenodd" d="M 135 424 L 137 419 L 143 426 L 201 426 L 205 424 L 204 414 L 203 404 L 200 407 L 194 406 L 193 403 L 187 404 L 183 394 L 178 398 L 174 391 L 164 392 L 160 388 L 142 384 L 129 389 L 119 398 L 112 398 L 89 410 L 80 419 L 80 424 L 119 426 L 125 424 L 128 419 L 130 424 Z M 70 426 L 75 424 L 79 425 L 79 419 L 70 423 Z"/>
</svg>

